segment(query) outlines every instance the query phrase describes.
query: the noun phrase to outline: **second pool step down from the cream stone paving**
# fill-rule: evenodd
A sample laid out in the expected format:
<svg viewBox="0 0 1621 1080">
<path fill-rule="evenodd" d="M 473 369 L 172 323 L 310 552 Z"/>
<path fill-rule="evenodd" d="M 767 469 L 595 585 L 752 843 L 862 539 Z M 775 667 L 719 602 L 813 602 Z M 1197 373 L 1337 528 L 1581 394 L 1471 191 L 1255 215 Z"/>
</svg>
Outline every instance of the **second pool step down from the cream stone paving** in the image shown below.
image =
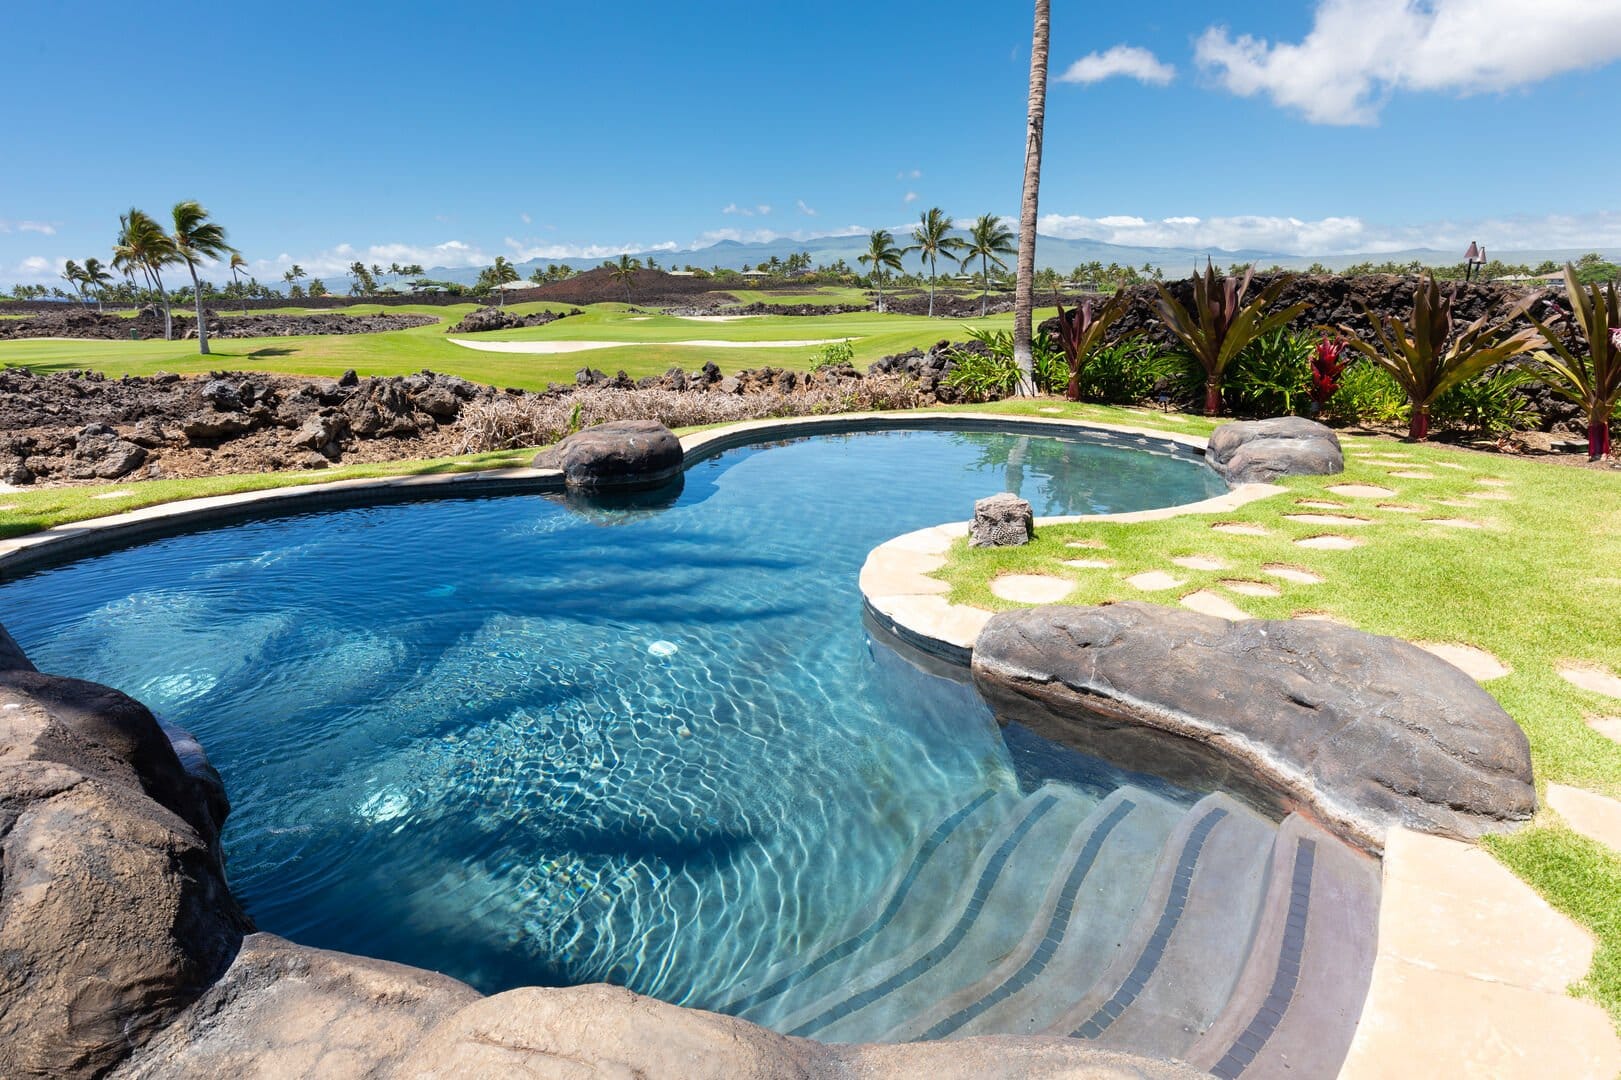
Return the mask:
<svg viewBox="0 0 1621 1080">
<path fill-rule="evenodd" d="M 1049 1033 L 1180 1059 L 1243 970 L 1276 835 L 1227 795 L 1200 799 L 1165 845 L 1130 944 Z"/>
</svg>

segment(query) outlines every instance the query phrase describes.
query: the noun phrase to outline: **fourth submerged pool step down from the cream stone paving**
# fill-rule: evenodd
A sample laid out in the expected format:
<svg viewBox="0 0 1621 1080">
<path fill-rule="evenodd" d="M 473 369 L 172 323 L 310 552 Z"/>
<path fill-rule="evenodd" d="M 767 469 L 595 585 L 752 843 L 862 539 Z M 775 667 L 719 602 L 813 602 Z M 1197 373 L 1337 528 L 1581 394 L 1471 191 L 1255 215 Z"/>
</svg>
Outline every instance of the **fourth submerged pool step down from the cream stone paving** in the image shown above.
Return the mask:
<svg viewBox="0 0 1621 1080">
<path fill-rule="evenodd" d="M 825 1043 L 866 1043 L 929 1002 L 973 981 L 1018 947 L 1052 889 L 1052 866 L 1084 840 L 1097 808 L 1075 788 L 1047 783 L 1026 796 L 987 840 L 973 871 L 932 897 L 932 929 L 877 963 L 854 965 L 833 992 L 785 1017 L 781 1031 Z"/>
</svg>

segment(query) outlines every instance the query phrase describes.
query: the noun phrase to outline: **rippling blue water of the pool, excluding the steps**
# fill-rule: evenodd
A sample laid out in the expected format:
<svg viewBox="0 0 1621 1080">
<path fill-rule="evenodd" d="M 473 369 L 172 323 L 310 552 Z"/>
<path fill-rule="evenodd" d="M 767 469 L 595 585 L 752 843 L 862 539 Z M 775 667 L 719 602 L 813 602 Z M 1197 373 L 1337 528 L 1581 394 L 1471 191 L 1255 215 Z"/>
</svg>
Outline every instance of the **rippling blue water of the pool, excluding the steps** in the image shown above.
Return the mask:
<svg viewBox="0 0 1621 1080">
<path fill-rule="evenodd" d="M 1224 485 L 1130 441 L 890 431 L 723 452 L 679 493 L 254 521 L 0 587 L 47 671 L 117 686 L 222 772 L 261 929 L 483 991 L 679 1004 L 825 944 L 986 790 L 1122 778 L 1010 730 L 861 621 L 888 537 Z"/>
</svg>

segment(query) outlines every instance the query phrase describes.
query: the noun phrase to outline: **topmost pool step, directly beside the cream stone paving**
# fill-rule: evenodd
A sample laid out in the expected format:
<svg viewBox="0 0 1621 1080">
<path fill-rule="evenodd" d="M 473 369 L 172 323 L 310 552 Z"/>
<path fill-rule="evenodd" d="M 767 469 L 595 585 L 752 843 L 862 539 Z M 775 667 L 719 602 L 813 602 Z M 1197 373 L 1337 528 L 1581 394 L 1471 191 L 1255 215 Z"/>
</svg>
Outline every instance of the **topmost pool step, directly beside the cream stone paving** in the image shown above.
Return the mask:
<svg viewBox="0 0 1621 1080">
<path fill-rule="evenodd" d="M 1188 1064 L 1222 1080 L 1332 1075 L 1362 1015 L 1378 919 L 1379 864 L 1285 817 L 1250 960 Z"/>
</svg>

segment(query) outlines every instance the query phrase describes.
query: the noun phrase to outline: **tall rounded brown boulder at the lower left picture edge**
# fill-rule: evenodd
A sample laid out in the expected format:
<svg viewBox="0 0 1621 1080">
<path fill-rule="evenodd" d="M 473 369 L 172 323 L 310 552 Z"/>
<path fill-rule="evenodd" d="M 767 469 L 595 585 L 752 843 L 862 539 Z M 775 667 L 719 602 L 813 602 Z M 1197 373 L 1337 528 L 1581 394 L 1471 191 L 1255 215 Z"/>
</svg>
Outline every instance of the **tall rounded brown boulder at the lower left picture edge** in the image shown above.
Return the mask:
<svg viewBox="0 0 1621 1080">
<path fill-rule="evenodd" d="M 105 1072 L 230 965 L 250 923 L 222 819 L 139 702 L 0 671 L 6 1077 Z"/>
</svg>

